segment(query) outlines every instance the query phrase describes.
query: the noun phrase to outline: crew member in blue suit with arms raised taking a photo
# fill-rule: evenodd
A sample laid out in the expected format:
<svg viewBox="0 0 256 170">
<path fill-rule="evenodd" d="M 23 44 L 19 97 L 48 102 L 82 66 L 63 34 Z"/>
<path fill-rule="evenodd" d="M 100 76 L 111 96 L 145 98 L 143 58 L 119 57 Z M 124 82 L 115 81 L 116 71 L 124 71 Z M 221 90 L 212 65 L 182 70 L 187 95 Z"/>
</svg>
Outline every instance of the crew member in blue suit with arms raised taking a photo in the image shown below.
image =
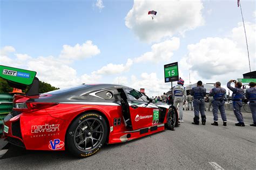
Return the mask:
<svg viewBox="0 0 256 170">
<path fill-rule="evenodd" d="M 231 87 L 232 82 L 234 82 L 235 87 Z M 244 98 L 244 90 L 242 90 L 241 87 L 242 83 L 237 82 L 236 80 L 230 80 L 227 83 L 227 88 L 233 92 L 231 96 L 231 99 L 233 101 L 233 111 L 238 121 L 238 123 L 235 124 L 235 126 L 245 126 L 244 119 L 242 118 L 241 113 L 242 99 Z"/>
</svg>

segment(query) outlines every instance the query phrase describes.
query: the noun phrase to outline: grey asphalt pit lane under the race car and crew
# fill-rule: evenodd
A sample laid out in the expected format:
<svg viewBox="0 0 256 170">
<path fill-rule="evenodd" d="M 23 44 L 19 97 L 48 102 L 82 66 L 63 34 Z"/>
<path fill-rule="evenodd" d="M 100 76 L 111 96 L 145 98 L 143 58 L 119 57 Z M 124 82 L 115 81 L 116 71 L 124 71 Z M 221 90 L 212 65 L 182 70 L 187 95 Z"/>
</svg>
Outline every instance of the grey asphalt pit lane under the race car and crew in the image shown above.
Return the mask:
<svg viewBox="0 0 256 170">
<path fill-rule="evenodd" d="M 206 125 L 192 125 L 193 112 L 184 111 L 184 123 L 176 131 L 164 131 L 123 144 L 105 145 L 85 159 L 66 152 L 25 151 L 10 146 L 0 160 L 1 169 L 255 169 L 256 127 L 251 113 L 244 113 L 245 127 L 234 126 L 227 111 L 227 126 L 212 126 L 212 112 Z M 220 117 L 220 115 L 219 115 Z M 234 122 L 232 122 L 234 121 Z"/>
</svg>

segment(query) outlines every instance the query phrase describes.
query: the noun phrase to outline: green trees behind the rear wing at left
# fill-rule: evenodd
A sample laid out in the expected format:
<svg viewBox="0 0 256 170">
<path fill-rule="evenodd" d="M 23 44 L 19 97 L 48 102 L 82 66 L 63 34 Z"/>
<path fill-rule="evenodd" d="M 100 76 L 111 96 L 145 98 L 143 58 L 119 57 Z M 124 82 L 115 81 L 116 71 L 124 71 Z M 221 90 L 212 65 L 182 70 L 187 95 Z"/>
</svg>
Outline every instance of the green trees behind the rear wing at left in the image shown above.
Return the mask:
<svg viewBox="0 0 256 170">
<path fill-rule="evenodd" d="M 57 90 L 59 88 L 53 87 L 48 83 L 39 81 L 39 93 L 46 93 L 49 91 Z M 12 87 L 10 87 L 6 80 L 0 78 L 0 93 L 9 93 L 12 92 Z M 23 91 L 24 92 L 24 91 Z"/>
</svg>

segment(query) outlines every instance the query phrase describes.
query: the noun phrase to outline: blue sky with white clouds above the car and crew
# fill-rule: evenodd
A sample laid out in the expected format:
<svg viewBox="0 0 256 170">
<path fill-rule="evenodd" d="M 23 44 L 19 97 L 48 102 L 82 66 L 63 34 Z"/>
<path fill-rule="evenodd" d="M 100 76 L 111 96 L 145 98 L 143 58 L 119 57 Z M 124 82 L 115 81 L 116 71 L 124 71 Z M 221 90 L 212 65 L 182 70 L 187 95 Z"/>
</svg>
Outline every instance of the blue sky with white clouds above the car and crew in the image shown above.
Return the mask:
<svg viewBox="0 0 256 170">
<path fill-rule="evenodd" d="M 35 70 L 39 79 L 58 87 L 79 83 L 119 83 L 136 89 L 144 87 L 146 92 L 152 95 L 163 93 L 170 88 L 170 84 L 164 83 L 163 65 L 172 62 L 179 62 L 180 76 L 185 79 L 185 84 L 188 84 L 189 73 L 192 83 L 201 79 L 205 82 L 221 80 L 226 84 L 227 80 L 241 78 L 242 73 L 248 72 L 246 49 L 239 45 L 245 44 L 245 39 L 242 25 L 239 25 L 242 21 L 240 9 L 235 0 L 185 2 L 191 3 L 192 8 L 177 1 L 99 2 L 104 8 L 97 6 L 97 1 L 2 0 L 0 64 Z M 173 8 L 175 5 L 177 7 Z M 251 37 L 248 38 L 251 67 L 255 70 L 256 4 L 255 1 L 241 1 L 241 5 L 245 21 L 248 22 L 247 36 Z M 133 10 L 131 15 L 128 15 L 133 7 L 139 10 Z M 152 21 L 144 11 L 154 8 L 159 11 Z M 197 12 L 198 15 L 194 15 Z M 172 22 L 172 19 L 176 22 Z M 146 37 L 144 33 L 147 33 Z M 174 42 L 173 37 L 179 41 L 176 39 Z M 202 39 L 205 41 L 201 42 Z M 85 46 L 77 57 L 66 55 L 66 52 L 70 51 L 65 50 L 63 45 L 69 45 L 72 53 L 72 47 L 76 44 L 82 46 L 88 40 L 91 42 L 89 46 L 97 47 L 94 49 L 96 51 L 83 53 L 87 50 Z M 166 42 L 168 40 L 169 43 Z M 177 42 L 180 43 L 178 46 L 175 45 Z M 228 43 L 230 45 L 227 48 L 218 47 L 218 44 Z M 150 58 L 147 55 L 152 55 L 147 52 L 152 52 L 151 46 L 154 44 L 159 44 L 159 49 L 153 52 L 151 59 L 147 59 Z M 196 47 L 188 49 L 191 44 Z M 200 55 L 203 55 L 198 53 L 197 49 L 206 49 L 203 47 L 205 44 L 208 47 L 208 50 L 204 51 L 207 59 L 197 65 L 202 57 Z M 9 48 L 5 48 L 6 46 Z M 235 53 L 241 53 L 242 56 L 232 56 L 225 51 L 232 48 L 238 50 Z M 211 49 L 214 49 L 214 52 Z M 165 52 L 169 53 L 169 56 L 162 55 L 163 57 L 158 58 Z M 144 54 L 143 61 L 136 62 L 136 58 Z M 216 58 L 227 58 L 224 61 L 223 58 L 214 60 L 214 55 Z M 129 64 L 128 59 L 131 59 Z M 196 61 L 197 59 L 199 61 Z M 228 71 L 231 65 L 240 60 L 242 65 L 247 65 L 233 72 Z M 211 72 L 207 72 L 207 63 L 210 64 L 208 69 L 212 70 Z M 196 68 L 194 65 L 197 65 Z M 223 72 L 212 69 L 215 66 L 225 69 Z M 120 68 L 120 71 L 111 70 L 114 67 Z"/>
</svg>

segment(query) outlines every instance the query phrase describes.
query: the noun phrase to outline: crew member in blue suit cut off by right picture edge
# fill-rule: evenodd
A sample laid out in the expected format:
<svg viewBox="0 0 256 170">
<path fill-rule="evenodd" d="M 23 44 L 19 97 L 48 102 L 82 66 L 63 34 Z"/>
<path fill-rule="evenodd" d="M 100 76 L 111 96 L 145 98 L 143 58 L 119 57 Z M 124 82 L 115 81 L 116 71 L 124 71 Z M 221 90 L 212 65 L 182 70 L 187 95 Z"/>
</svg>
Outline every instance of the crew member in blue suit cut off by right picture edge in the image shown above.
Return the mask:
<svg viewBox="0 0 256 170">
<path fill-rule="evenodd" d="M 253 124 L 250 126 L 256 126 L 256 83 L 249 83 L 250 88 L 246 90 L 245 97 L 250 101 L 249 107 L 252 112 Z"/>
</svg>

